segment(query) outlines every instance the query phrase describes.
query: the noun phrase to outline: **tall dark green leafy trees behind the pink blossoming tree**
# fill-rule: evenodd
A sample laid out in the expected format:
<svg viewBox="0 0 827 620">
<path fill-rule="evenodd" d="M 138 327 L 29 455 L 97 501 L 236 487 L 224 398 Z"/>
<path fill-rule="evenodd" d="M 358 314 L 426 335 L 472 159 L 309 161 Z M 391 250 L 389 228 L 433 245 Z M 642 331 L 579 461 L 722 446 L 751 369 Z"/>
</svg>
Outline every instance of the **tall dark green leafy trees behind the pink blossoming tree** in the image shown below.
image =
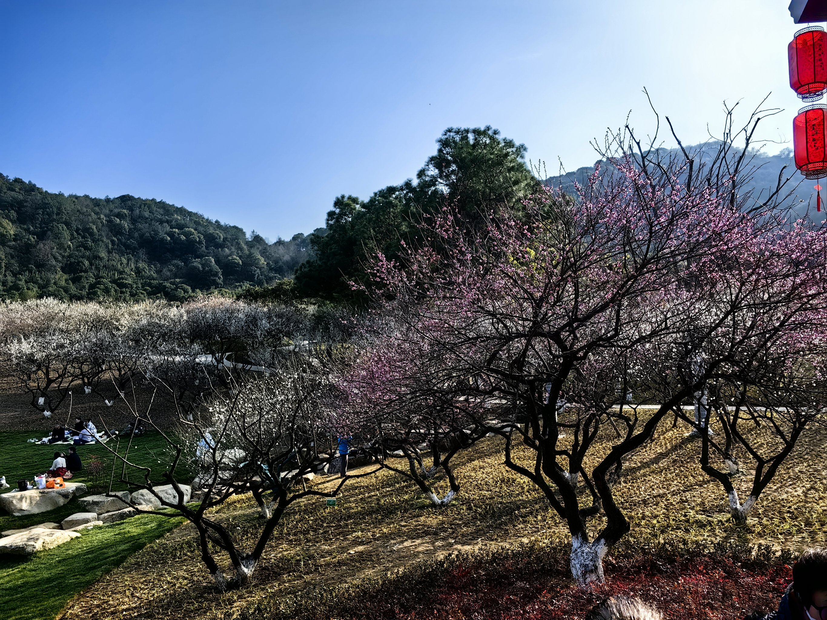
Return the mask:
<svg viewBox="0 0 827 620">
<path fill-rule="evenodd" d="M 307 297 L 360 302 L 351 282 L 367 281 L 365 265 L 377 251 L 399 255 L 400 242 L 415 241 L 418 222 L 452 204 L 470 226 L 491 209 L 517 209 L 539 187 L 525 165 L 525 145 L 500 136 L 490 126 L 449 127 L 437 140 L 437 153 L 400 185 L 390 185 L 362 201 L 342 194 L 327 212 L 327 234 L 310 235 L 315 258 L 299 266 L 296 285 Z"/>
</svg>

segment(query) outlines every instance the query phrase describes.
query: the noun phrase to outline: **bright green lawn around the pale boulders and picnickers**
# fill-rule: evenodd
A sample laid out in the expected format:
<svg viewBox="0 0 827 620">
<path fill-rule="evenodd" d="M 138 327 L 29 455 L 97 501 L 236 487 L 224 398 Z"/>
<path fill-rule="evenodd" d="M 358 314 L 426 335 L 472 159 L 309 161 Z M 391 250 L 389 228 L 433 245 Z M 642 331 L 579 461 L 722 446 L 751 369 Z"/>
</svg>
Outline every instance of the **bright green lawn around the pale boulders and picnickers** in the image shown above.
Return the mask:
<svg viewBox="0 0 827 620">
<path fill-rule="evenodd" d="M 14 488 L 18 479 L 33 479 L 49 469 L 55 451 L 66 452 L 69 446 L 41 446 L 28 443 L 32 437 L 45 436 L 45 431 L 0 432 L 0 475 L 5 475 Z M 115 440 L 107 446 L 116 446 Z M 105 493 L 112 463 L 115 460 L 106 446 L 77 446 L 85 465 L 92 455 L 98 455 L 108 463 L 98 488 L 90 493 Z M 125 448 L 122 441 L 120 452 Z M 130 460 L 137 465 L 153 468 L 152 479 L 161 482 L 160 474 L 168 460 L 165 459 L 165 441 L 159 433 L 147 432 L 136 438 L 131 447 Z M 113 489 L 128 489 L 127 484 L 117 482 L 121 468 L 116 467 Z M 133 477 L 135 476 L 133 470 Z M 182 481 L 184 481 L 182 479 Z M 72 482 L 92 485 L 88 472 L 78 472 Z M 11 489 L 7 489 L 11 490 Z M 82 512 L 76 499 L 61 508 L 28 517 L 12 517 L 0 511 L 0 531 L 16 527 L 28 527 L 42 522 L 57 522 L 70 514 Z M 163 536 L 179 525 L 182 519 L 141 515 L 122 522 L 84 531 L 83 536 L 41 551 L 31 558 L 0 556 L 0 618 L 3 620 L 41 620 L 55 618 L 75 594 L 92 584 L 109 570 L 120 565 L 132 553 L 147 543 Z"/>
</svg>

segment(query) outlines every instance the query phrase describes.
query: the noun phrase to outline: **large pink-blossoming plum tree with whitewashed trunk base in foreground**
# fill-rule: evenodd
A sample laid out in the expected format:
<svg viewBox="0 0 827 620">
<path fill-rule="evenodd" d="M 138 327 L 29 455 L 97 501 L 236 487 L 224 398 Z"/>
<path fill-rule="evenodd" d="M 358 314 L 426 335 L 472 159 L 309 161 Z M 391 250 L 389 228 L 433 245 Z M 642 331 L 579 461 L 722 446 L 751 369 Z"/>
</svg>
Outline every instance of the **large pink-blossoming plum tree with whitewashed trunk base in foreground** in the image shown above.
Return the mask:
<svg viewBox="0 0 827 620">
<path fill-rule="evenodd" d="M 477 422 L 566 523 L 579 584 L 603 580 L 629 531 L 613 493 L 624 458 L 734 356 L 788 336 L 788 322 L 756 317 L 824 303 L 825 235 L 788 222 L 784 180 L 768 198 L 739 193 L 746 135 L 696 165 L 634 154 L 627 132 L 577 195 L 548 188 L 476 232 L 447 205 L 425 220 L 431 243 L 373 265 L 377 302 L 424 343 L 417 363 L 452 377 L 452 402 L 506 403 L 507 430 Z M 657 408 L 618 407 L 629 389 Z"/>
</svg>

